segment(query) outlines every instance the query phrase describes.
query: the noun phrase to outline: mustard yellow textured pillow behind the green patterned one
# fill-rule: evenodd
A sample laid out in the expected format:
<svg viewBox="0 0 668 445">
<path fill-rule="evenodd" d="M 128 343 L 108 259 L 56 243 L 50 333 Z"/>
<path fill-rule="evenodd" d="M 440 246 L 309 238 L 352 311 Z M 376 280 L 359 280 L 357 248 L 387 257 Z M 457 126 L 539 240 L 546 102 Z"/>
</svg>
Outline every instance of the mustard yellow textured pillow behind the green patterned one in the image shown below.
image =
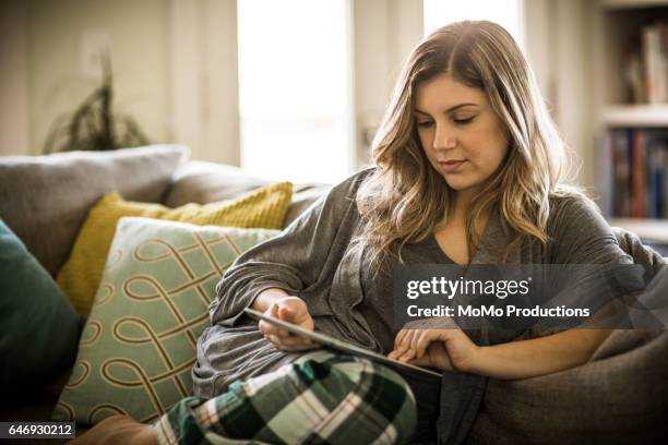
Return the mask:
<svg viewBox="0 0 668 445">
<path fill-rule="evenodd" d="M 291 197 L 290 182 L 269 185 L 234 201 L 186 204 L 177 208 L 124 201 L 119 194 L 110 193 L 88 213 L 70 258 L 58 273 L 58 284 L 79 312 L 87 314 L 91 311 L 116 224 L 123 216 L 143 216 L 200 226 L 281 229 Z"/>
</svg>

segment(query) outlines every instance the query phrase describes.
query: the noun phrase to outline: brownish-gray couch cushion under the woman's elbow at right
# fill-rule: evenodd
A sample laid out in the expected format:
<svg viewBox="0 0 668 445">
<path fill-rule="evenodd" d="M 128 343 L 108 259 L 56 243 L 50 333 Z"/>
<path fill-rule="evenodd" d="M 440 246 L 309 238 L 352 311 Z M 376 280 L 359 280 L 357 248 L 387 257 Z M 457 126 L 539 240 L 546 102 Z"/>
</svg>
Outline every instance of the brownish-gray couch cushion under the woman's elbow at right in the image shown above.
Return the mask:
<svg viewBox="0 0 668 445">
<path fill-rule="evenodd" d="M 615 234 L 635 263 L 667 267 L 634 233 Z M 490 380 L 468 443 L 668 443 L 667 382 L 668 332 L 615 330 L 582 366 Z"/>
</svg>

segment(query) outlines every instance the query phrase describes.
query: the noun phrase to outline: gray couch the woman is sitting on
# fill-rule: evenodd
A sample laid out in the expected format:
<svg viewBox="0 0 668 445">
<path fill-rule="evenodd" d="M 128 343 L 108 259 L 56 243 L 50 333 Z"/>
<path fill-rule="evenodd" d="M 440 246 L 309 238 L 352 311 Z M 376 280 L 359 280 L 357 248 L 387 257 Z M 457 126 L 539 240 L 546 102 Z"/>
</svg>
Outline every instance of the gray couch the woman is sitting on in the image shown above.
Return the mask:
<svg viewBox="0 0 668 445">
<path fill-rule="evenodd" d="M 188 149 L 174 145 L 4 157 L 0 218 L 56 276 L 88 208 L 108 192 L 177 207 L 234 199 L 269 183 L 232 166 L 188 161 Z M 327 189 L 296 185 L 284 227 Z M 617 234 L 639 262 L 660 262 L 632 233 Z M 49 419 L 68 376 L 55 375 L 3 404 L 0 421 Z M 467 437 L 470 444 L 582 442 L 668 443 L 667 332 L 615 332 L 583 366 L 524 381 L 491 380 Z"/>
</svg>

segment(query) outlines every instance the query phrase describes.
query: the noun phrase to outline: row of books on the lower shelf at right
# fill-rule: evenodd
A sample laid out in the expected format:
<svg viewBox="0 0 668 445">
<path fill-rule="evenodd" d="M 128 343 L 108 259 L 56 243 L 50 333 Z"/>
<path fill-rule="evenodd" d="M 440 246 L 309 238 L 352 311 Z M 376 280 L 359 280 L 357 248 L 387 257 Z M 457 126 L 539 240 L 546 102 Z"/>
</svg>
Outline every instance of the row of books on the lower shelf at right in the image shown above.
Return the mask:
<svg viewBox="0 0 668 445">
<path fill-rule="evenodd" d="M 668 129 L 610 129 L 604 151 L 606 213 L 668 218 Z"/>
</svg>

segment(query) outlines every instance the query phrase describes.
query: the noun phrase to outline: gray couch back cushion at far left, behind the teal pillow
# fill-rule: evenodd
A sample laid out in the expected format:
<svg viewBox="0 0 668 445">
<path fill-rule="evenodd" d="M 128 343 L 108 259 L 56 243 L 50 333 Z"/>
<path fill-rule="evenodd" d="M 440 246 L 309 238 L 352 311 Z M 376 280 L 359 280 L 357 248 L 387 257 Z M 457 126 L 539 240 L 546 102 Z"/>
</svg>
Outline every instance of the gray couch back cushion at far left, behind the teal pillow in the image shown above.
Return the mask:
<svg viewBox="0 0 668 445">
<path fill-rule="evenodd" d="M 180 145 L 154 145 L 1 157 L 0 217 L 55 276 L 97 200 L 117 191 L 128 200 L 159 202 L 188 153 Z"/>
</svg>

